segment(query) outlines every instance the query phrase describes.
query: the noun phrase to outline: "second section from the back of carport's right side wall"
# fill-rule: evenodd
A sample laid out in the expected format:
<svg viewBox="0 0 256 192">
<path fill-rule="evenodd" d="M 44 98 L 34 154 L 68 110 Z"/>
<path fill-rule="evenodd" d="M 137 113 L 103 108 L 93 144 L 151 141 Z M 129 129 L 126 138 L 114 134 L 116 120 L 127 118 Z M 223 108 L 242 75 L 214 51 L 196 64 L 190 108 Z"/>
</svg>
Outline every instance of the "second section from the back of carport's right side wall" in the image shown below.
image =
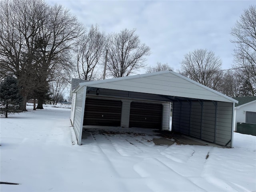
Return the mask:
<svg viewBox="0 0 256 192">
<path fill-rule="evenodd" d="M 189 135 L 190 132 L 190 102 L 181 102 L 181 121 L 180 121 L 180 133 Z"/>
</svg>

